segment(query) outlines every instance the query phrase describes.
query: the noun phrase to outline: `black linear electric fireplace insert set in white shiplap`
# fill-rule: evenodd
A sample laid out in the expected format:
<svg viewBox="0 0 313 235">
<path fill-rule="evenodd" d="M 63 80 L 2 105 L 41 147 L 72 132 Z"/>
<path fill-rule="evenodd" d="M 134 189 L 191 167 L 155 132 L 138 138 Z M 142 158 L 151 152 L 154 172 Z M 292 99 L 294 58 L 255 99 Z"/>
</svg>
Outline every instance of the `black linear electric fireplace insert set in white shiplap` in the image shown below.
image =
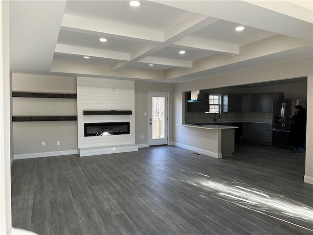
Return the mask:
<svg viewBox="0 0 313 235">
<path fill-rule="evenodd" d="M 84 127 L 84 136 L 111 136 L 130 134 L 130 122 L 85 123 Z"/>
</svg>

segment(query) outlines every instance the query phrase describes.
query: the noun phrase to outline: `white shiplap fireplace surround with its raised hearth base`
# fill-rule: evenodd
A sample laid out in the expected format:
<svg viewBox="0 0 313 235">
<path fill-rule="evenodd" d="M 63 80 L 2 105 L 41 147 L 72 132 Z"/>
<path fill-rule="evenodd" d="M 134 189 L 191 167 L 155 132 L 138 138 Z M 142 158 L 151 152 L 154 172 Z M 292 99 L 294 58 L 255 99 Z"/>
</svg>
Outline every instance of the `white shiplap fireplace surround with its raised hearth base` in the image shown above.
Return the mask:
<svg viewBox="0 0 313 235">
<path fill-rule="evenodd" d="M 131 110 L 131 115 L 83 115 L 83 111 Z M 84 136 L 84 124 L 130 122 L 130 134 Z M 134 128 L 134 81 L 77 77 L 77 135 L 79 155 L 137 151 Z"/>
</svg>

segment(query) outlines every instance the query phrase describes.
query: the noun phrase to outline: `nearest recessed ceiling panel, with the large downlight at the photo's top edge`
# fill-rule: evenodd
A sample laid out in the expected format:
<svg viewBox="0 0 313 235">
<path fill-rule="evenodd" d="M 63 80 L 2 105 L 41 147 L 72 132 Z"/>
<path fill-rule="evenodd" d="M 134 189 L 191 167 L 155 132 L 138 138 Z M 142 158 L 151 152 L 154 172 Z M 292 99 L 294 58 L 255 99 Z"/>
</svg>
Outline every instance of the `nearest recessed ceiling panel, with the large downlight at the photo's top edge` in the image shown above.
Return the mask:
<svg viewBox="0 0 313 235">
<path fill-rule="evenodd" d="M 136 8 L 124 0 L 70 0 L 67 1 L 65 14 L 164 31 L 193 13 L 151 1 L 141 1 L 140 7 Z"/>
</svg>

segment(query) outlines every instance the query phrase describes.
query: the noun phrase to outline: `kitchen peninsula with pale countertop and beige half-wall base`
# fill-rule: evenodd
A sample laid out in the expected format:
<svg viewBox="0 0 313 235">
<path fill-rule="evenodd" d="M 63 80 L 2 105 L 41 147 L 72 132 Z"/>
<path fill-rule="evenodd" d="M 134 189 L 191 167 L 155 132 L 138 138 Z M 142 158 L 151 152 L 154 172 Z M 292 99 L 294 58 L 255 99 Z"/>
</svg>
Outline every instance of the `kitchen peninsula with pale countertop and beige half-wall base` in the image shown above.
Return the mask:
<svg viewBox="0 0 313 235">
<path fill-rule="evenodd" d="M 237 126 L 218 124 L 177 124 L 185 133 L 183 144 L 178 146 L 214 158 L 232 156 L 235 151 Z"/>
</svg>

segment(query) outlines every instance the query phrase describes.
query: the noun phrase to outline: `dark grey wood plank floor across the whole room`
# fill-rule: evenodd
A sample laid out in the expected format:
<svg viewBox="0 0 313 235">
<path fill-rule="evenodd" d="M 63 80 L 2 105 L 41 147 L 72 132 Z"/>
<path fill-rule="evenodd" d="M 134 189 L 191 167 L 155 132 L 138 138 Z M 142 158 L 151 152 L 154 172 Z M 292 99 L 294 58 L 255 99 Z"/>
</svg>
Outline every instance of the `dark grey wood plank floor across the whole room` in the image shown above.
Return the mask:
<svg viewBox="0 0 313 235">
<path fill-rule="evenodd" d="M 253 143 L 16 160 L 12 225 L 37 234 L 312 235 L 304 155 Z"/>
</svg>

